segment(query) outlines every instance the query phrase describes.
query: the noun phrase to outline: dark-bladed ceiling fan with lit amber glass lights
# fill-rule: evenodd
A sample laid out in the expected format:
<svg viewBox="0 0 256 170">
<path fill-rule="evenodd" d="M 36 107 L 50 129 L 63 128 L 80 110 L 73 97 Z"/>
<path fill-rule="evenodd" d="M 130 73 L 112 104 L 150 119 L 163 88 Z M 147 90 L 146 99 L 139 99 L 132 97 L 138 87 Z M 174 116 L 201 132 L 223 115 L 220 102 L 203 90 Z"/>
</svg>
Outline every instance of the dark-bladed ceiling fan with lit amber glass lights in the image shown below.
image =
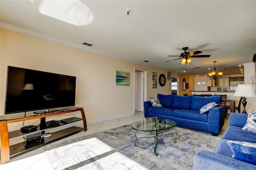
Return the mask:
<svg viewBox="0 0 256 170">
<path fill-rule="evenodd" d="M 196 54 L 202 53 L 202 51 L 194 51 L 192 53 L 186 52 L 188 47 L 183 47 L 182 49 L 184 50 L 184 53 L 181 53 L 180 56 L 178 56 L 178 55 L 168 55 L 168 57 L 181 57 L 181 58 L 176 58 L 176 59 L 182 59 L 180 63 L 185 64 L 185 63 L 190 63 L 192 61 L 192 59 L 190 59 L 188 57 L 210 57 L 211 56 L 211 55 L 196 55 Z M 176 60 L 176 59 L 172 59 L 170 61 L 173 61 L 173 60 Z M 168 63 L 168 62 L 169 61 L 166 61 L 166 63 Z"/>
</svg>

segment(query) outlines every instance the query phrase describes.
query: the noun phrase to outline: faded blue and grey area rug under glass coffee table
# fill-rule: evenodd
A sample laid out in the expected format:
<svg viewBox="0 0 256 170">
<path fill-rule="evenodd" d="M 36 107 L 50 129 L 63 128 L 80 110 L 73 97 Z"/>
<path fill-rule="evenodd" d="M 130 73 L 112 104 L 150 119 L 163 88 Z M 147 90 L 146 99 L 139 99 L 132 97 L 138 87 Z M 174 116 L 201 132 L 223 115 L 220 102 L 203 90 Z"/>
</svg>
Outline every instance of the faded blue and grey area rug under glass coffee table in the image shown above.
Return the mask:
<svg viewBox="0 0 256 170">
<path fill-rule="evenodd" d="M 220 137 L 176 127 L 159 135 L 154 155 L 154 137 L 137 135 L 130 125 L 118 127 L 44 147 L 54 170 L 185 170 L 194 169 L 194 154 L 213 151 Z"/>
</svg>

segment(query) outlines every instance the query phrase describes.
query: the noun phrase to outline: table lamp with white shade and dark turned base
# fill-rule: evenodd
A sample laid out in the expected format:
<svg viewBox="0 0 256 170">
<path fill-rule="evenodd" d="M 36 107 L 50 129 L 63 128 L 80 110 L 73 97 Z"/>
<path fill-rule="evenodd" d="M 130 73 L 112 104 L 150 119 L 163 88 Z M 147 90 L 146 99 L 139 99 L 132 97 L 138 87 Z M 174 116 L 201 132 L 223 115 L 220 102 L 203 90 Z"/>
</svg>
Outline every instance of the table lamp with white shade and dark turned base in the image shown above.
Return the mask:
<svg viewBox="0 0 256 170">
<path fill-rule="evenodd" d="M 247 103 L 245 97 L 256 97 L 255 91 L 254 91 L 252 85 L 250 85 L 250 84 L 239 84 L 239 85 L 237 85 L 234 96 L 243 97 L 242 104 L 244 106 L 244 110 L 243 110 L 242 113 L 247 113 L 246 110 L 245 110 L 245 106 L 246 106 L 246 103 Z"/>
</svg>

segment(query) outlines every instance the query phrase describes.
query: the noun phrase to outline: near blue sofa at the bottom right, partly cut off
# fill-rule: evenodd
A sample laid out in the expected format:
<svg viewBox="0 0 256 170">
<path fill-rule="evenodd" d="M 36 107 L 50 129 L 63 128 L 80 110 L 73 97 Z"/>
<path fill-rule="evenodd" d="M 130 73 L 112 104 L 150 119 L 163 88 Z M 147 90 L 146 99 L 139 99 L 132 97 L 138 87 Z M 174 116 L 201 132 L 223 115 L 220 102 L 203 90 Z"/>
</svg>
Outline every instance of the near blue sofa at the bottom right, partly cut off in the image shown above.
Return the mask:
<svg viewBox="0 0 256 170">
<path fill-rule="evenodd" d="M 242 130 L 247 116 L 244 113 L 230 113 L 229 126 L 214 152 L 200 150 L 195 154 L 195 170 L 256 170 L 256 165 L 232 158 L 233 152 L 227 143 L 228 140 L 256 143 L 256 133 Z"/>
</svg>

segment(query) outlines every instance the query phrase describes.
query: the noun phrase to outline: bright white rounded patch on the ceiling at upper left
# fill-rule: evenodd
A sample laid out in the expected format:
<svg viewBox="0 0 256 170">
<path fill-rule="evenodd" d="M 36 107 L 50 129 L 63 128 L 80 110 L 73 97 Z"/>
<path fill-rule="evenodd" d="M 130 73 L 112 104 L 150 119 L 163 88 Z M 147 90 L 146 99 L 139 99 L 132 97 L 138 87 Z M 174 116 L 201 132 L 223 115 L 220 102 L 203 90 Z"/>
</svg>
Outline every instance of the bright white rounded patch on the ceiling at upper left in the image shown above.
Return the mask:
<svg viewBox="0 0 256 170">
<path fill-rule="evenodd" d="M 89 8 L 79 0 L 43 0 L 39 12 L 76 26 L 90 24 L 93 20 Z"/>
</svg>

